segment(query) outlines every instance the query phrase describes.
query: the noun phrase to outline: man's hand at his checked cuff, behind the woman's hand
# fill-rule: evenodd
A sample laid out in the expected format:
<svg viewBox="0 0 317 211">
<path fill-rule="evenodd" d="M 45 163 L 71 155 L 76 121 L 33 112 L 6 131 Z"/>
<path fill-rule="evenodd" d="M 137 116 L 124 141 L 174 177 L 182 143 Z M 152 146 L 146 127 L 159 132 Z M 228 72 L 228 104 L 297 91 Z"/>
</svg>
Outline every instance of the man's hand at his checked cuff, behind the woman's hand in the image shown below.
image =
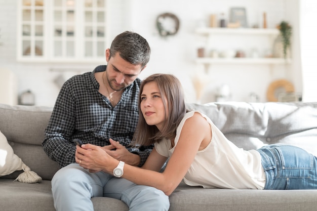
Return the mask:
<svg viewBox="0 0 317 211">
<path fill-rule="evenodd" d="M 139 155 L 129 152 L 127 148 L 122 146 L 118 141 L 112 139 L 109 139 L 109 141 L 110 145 L 102 147 L 107 154 L 130 165 L 139 165 L 141 160 Z"/>
</svg>

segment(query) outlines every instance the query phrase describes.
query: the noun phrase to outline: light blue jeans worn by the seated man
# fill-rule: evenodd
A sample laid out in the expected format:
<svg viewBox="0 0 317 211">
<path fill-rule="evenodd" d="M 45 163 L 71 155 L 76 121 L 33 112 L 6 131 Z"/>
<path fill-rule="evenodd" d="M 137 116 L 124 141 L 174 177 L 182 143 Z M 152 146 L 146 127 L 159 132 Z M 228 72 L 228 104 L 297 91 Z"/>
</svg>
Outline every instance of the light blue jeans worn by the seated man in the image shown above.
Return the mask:
<svg viewBox="0 0 317 211">
<path fill-rule="evenodd" d="M 56 210 L 94 210 L 92 197 L 122 200 L 129 210 L 168 210 L 169 198 L 153 187 L 136 185 L 103 172 L 89 173 L 77 163 L 61 168 L 52 179 Z M 107 206 L 105 204 L 105 206 Z"/>
</svg>

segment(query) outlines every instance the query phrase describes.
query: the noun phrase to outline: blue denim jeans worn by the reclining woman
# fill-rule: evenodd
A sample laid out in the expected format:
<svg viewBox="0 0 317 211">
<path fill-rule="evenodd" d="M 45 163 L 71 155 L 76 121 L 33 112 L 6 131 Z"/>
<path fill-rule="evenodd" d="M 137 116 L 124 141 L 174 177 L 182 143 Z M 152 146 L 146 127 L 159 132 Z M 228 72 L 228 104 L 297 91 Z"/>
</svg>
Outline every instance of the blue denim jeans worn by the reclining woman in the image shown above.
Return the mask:
<svg viewBox="0 0 317 211">
<path fill-rule="evenodd" d="M 289 145 L 268 145 L 258 152 L 266 176 L 264 189 L 317 189 L 317 157 Z"/>
</svg>

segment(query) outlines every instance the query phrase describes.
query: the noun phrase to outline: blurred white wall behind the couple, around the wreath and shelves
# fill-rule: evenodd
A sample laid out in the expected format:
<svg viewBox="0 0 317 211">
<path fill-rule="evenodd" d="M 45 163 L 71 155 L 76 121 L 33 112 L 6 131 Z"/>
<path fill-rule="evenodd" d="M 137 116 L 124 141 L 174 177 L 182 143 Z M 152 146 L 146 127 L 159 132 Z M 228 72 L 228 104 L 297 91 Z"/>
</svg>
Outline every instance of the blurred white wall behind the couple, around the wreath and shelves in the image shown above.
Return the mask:
<svg viewBox="0 0 317 211">
<path fill-rule="evenodd" d="M 262 14 L 267 13 L 268 27 L 286 19 L 293 24 L 297 14 L 298 0 L 109 0 L 111 10 L 112 38 L 124 31 L 133 30 L 144 36 L 152 49 L 148 67 L 141 73 L 144 78 L 149 74 L 162 72 L 178 76 L 184 86 L 187 102 L 195 102 L 195 92 L 191 77 L 200 71 L 194 63 L 196 48 L 200 38 L 193 33 L 197 25 L 208 23 L 210 14 L 224 12 L 228 15 L 230 7 L 245 7 L 250 25 L 262 25 Z M 55 103 L 59 88 L 54 79 L 60 72 L 50 71 L 52 68 L 73 68 L 77 64 L 42 64 L 16 62 L 16 1 L 0 0 L 0 34 L 4 44 L 0 46 L 0 66 L 11 69 L 18 78 L 19 93 L 30 89 L 35 94 L 36 105 Z M 288 12 L 293 10 L 293 12 Z M 155 28 L 157 15 L 171 12 L 180 19 L 179 32 L 168 38 L 159 36 Z M 296 22 L 295 26 L 296 26 Z M 297 24 L 298 25 L 298 24 Z M 296 27 L 294 28 L 296 29 Z M 224 40 L 220 40 L 224 41 Z M 295 40 L 296 43 L 296 40 Z M 248 44 L 246 44 L 248 45 Z M 246 47 L 251 48 L 251 47 Z M 293 52 L 293 60 L 299 59 Z M 296 63 L 296 62 L 295 62 Z M 81 65 L 83 71 L 92 71 L 99 64 Z M 63 76 L 70 77 L 79 72 L 67 72 Z M 302 91 L 301 69 L 292 65 L 214 65 L 208 71 L 209 84 L 201 102 L 215 100 L 217 88 L 226 83 L 232 92 L 231 100 L 248 101 L 251 92 L 266 101 L 266 90 L 269 83 L 278 78 L 286 78 L 294 83 L 297 92 Z"/>
</svg>

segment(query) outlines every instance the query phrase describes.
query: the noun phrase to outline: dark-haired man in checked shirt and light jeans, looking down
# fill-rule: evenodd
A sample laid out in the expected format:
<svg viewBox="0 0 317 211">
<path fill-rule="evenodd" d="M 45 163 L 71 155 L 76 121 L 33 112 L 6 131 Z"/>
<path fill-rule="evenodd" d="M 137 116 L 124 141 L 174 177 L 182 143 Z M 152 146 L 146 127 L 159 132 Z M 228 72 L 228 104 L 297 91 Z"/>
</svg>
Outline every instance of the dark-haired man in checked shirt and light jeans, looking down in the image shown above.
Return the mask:
<svg viewBox="0 0 317 211">
<path fill-rule="evenodd" d="M 57 97 L 45 131 L 44 151 L 62 167 L 52 179 L 56 210 L 93 210 L 92 197 L 121 199 L 130 210 L 168 210 L 168 197 L 104 172 L 89 172 L 75 163 L 74 139 L 98 145 L 112 157 L 141 166 L 152 146 L 129 144 L 138 121 L 138 77 L 150 57 L 147 41 L 123 32 L 106 50 L 107 66 L 75 75 Z M 117 142 L 110 144 L 109 139 Z M 120 177 L 120 176 L 117 176 Z"/>
</svg>

